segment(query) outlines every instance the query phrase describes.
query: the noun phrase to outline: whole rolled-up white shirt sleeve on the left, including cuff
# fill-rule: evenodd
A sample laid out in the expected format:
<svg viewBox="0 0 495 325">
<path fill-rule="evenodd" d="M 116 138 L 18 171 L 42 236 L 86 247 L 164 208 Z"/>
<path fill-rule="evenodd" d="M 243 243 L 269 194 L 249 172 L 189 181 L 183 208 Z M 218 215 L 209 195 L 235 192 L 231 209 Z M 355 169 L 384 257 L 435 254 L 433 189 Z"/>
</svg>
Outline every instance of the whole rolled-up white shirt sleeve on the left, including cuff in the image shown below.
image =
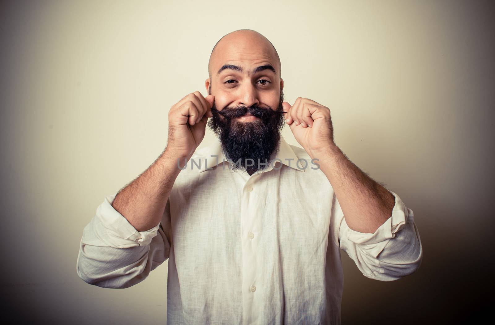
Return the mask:
<svg viewBox="0 0 495 325">
<path fill-rule="evenodd" d="M 147 231 L 137 231 L 113 208 L 115 196 L 105 197 L 84 228 L 76 271 L 88 284 L 126 288 L 146 279 L 168 258 L 170 204 L 167 202 L 160 223 Z"/>
</svg>

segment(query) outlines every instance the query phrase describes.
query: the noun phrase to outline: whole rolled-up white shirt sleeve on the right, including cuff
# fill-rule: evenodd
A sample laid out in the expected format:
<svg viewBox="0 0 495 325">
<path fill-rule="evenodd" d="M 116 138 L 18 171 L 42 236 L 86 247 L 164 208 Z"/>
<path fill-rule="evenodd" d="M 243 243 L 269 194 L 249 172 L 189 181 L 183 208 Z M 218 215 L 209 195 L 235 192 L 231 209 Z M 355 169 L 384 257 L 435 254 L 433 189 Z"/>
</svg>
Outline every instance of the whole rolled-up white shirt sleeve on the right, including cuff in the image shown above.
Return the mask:
<svg viewBox="0 0 495 325">
<path fill-rule="evenodd" d="M 423 257 L 413 211 L 396 193 L 389 192 L 396 199 L 392 216 L 373 234 L 350 229 L 338 201 L 334 205 L 335 215 L 342 217 L 340 247 L 354 260 L 363 275 L 380 281 L 393 281 L 414 273 Z"/>
</svg>

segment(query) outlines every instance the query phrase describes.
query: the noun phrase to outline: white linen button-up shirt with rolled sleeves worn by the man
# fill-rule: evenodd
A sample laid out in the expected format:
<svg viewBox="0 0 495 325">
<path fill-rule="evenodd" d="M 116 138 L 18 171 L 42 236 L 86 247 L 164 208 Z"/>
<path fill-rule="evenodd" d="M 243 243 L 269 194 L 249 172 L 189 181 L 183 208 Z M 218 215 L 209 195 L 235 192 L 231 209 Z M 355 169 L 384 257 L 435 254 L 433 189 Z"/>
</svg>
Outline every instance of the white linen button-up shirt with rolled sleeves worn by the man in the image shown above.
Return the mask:
<svg viewBox="0 0 495 325">
<path fill-rule="evenodd" d="M 197 150 L 148 231 L 112 207 L 116 193 L 107 196 L 84 228 L 77 274 L 125 288 L 168 258 L 168 324 L 341 324 L 341 248 L 370 279 L 418 269 L 413 211 L 396 193 L 391 217 L 359 233 L 308 154 L 283 138 L 278 149 L 251 176 L 230 169 L 218 140 Z"/>
</svg>

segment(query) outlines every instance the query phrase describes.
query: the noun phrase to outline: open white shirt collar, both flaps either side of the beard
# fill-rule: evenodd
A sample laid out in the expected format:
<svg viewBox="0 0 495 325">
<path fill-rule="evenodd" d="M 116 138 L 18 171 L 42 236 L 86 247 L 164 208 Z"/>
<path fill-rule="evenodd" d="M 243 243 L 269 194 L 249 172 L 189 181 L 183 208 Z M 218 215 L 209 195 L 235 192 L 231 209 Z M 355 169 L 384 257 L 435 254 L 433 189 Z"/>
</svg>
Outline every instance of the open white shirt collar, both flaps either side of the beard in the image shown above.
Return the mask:
<svg viewBox="0 0 495 325">
<path fill-rule="evenodd" d="M 282 162 L 288 167 L 294 168 L 299 171 L 304 171 L 304 168 L 297 168 L 297 156 L 296 153 L 294 153 L 294 150 L 291 148 L 291 146 L 285 141 L 285 139 L 280 136 L 280 141 L 278 143 L 277 147 L 277 155 L 273 159 L 272 162 L 270 162 L 270 165 L 268 166 L 267 170 L 270 170 L 273 168 L 273 166 L 277 166 Z M 220 143 L 220 140 L 216 138 L 213 143 L 207 147 L 204 147 L 201 149 L 201 154 L 199 155 L 201 158 L 205 158 L 205 163 L 203 164 L 201 162 L 201 167 L 199 169 L 199 172 L 203 172 L 205 170 L 211 170 L 212 167 L 222 163 L 222 162 L 227 162 L 227 158 L 225 157 L 225 154 L 223 153 L 222 145 Z M 215 156 L 218 156 L 215 157 Z M 193 158 L 194 159 L 194 158 Z M 273 163 L 275 161 L 275 163 Z M 278 168 L 280 169 L 280 167 Z"/>
</svg>

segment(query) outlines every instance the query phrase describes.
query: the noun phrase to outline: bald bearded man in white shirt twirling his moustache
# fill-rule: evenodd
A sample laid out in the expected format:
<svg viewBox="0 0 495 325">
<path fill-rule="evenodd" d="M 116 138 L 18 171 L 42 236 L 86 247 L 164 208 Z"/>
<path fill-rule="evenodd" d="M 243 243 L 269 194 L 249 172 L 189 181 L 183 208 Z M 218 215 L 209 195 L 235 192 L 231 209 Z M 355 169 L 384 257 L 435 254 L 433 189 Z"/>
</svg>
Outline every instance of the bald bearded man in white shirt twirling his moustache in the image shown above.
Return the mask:
<svg viewBox="0 0 495 325">
<path fill-rule="evenodd" d="M 419 268 L 413 211 L 347 159 L 328 107 L 284 101 L 270 41 L 225 35 L 205 87 L 171 107 L 155 162 L 97 208 L 81 279 L 125 288 L 168 259 L 169 324 L 340 324 L 340 249 L 370 279 Z M 197 150 L 207 125 L 218 141 Z"/>
</svg>

